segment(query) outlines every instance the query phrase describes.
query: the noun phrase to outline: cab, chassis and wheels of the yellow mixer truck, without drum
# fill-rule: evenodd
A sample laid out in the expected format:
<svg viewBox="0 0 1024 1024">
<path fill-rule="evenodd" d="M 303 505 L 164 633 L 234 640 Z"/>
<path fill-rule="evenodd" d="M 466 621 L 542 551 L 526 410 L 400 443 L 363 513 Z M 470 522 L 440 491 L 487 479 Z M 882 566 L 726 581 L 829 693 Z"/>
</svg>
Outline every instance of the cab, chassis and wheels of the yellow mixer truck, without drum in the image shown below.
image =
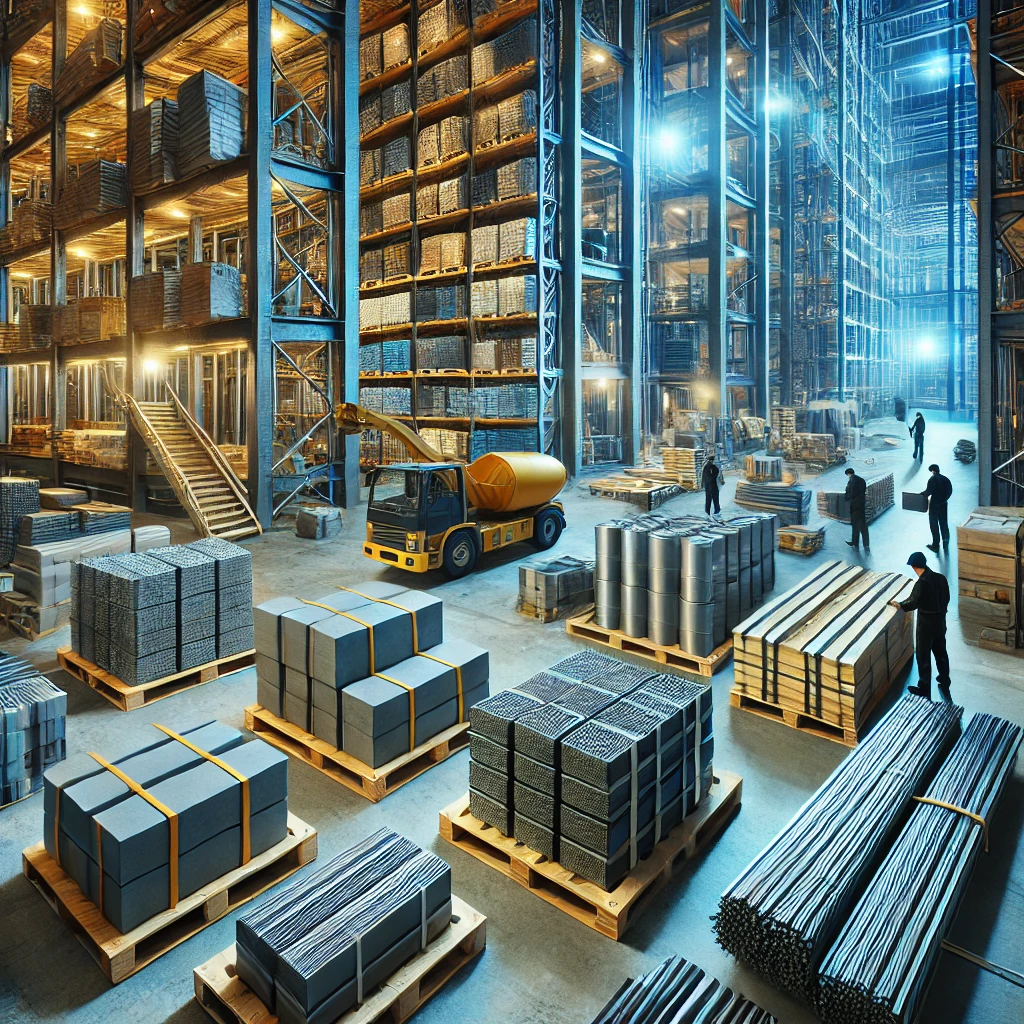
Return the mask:
<svg viewBox="0 0 1024 1024">
<path fill-rule="evenodd" d="M 473 570 L 483 552 L 527 540 L 550 548 L 565 525 L 557 502 L 487 516 L 481 520 L 467 503 L 462 463 L 383 466 L 370 477 L 362 553 L 408 571 L 442 568 L 459 579 Z"/>
</svg>

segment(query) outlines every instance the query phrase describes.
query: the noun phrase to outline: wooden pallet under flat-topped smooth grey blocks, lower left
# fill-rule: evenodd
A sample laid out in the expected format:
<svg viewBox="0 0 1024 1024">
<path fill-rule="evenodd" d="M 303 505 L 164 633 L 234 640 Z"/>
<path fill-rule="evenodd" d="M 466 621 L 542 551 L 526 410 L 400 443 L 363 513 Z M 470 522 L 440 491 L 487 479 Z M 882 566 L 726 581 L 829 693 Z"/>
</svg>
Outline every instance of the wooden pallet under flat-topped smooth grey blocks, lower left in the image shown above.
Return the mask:
<svg viewBox="0 0 1024 1024">
<path fill-rule="evenodd" d="M 23 851 L 22 870 L 116 985 L 315 858 L 316 829 L 289 813 L 288 836 L 276 846 L 125 934 L 86 899 L 42 843 Z"/>
</svg>

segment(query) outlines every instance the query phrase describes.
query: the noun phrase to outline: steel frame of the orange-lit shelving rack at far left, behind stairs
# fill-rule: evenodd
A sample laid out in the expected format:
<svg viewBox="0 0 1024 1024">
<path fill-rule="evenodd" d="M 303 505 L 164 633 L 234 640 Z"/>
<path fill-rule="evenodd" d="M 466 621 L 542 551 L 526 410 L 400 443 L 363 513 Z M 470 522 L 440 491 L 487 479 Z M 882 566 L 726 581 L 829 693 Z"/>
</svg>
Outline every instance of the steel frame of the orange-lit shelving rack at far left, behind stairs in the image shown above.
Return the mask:
<svg viewBox="0 0 1024 1024">
<path fill-rule="evenodd" d="M 0 152 L 3 169 L 0 213 L 3 222 L 10 219 L 9 173 L 10 162 L 44 140 L 50 144 L 50 195 L 55 199 L 65 183 L 66 175 L 66 125 L 69 116 L 112 87 L 123 85 L 126 97 L 123 130 L 126 138 L 127 172 L 131 181 L 133 118 L 132 114 L 145 104 L 145 74 L 147 66 L 172 52 L 179 43 L 216 23 L 227 11 L 245 14 L 247 51 L 246 90 L 248 92 L 246 138 L 247 145 L 237 160 L 214 166 L 183 180 L 175 180 L 144 194 L 137 194 L 129 184 L 125 208 L 109 211 L 100 217 L 71 230 L 53 230 L 50 239 L 32 247 L 33 252 L 51 253 L 49 302 L 55 310 L 63 304 L 68 246 L 74 240 L 90 232 L 125 225 L 123 266 L 127 279 L 127 335 L 92 344 L 67 347 L 58 344 L 54 336 L 45 352 L 50 367 L 53 396 L 52 425 L 54 431 L 63 425 L 65 369 L 69 359 L 123 357 L 125 360 L 125 389 L 137 397 L 143 394 L 143 365 L 150 345 L 173 345 L 176 348 L 196 348 L 225 340 L 245 344 L 248 371 L 245 391 L 245 436 L 250 502 L 261 522 L 268 524 L 296 489 L 311 480 L 322 492 L 337 503 L 352 504 L 358 500 L 357 439 L 339 438 L 333 429 L 330 414 L 335 400 L 342 396 L 354 399 L 357 376 L 354 360 L 345 357 L 346 324 L 355 323 L 354 290 L 345 289 L 344 281 L 357 279 L 357 157 L 351 146 L 344 144 L 343 126 L 357 116 L 357 24 L 358 5 L 354 0 L 337 4 L 319 0 L 213 0 L 198 2 L 159 31 L 141 39 L 136 37 L 136 19 L 143 16 L 137 0 L 128 0 L 123 10 L 124 57 L 121 67 L 89 84 L 84 91 L 68 101 L 54 105 L 52 119 L 35 131 L 7 144 Z M 98 9 L 98 8 L 97 8 Z M 24 8 L 23 8 L 24 10 Z M 101 12 L 105 12 L 105 8 Z M 330 54 L 330 111 L 329 124 L 324 126 L 328 136 L 326 147 L 329 158 L 323 166 L 296 159 L 293 154 L 274 150 L 275 125 L 283 112 L 275 109 L 275 86 L 283 75 L 281 62 L 274 53 L 272 18 L 274 12 L 299 29 L 319 34 L 326 40 Z M 240 15 L 241 16 L 241 15 Z M 68 2 L 41 3 L 31 17 L 8 14 L 4 19 L 4 38 L 0 44 L 0 74 L 3 76 L 2 95 L 4 121 L 11 123 L 12 56 L 40 32 L 48 31 L 52 38 L 52 79 L 63 67 L 67 57 Z M 300 100 L 301 102 L 301 100 Z M 287 112 L 286 112 L 287 114 Z M 229 178 L 245 179 L 244 212 L 240 220 L 245 225 L 246 252 L 248 254 L 247 311 L 241 317 L 216 321 L 206 326 L 168 329 L 141 334 L 133 330 L 132 292 L 130 281 L 145 269 L 146 242 L 144 221 L 146 212 L 158 206 L 182 201 L 201 189 L 210 189 Z M 326 244 L 328 271 L 322 281 L 313 281 L 306 266 L 293 258 L 294 273 L 291 279 L 280 276 L 282 261 L 289 258 L 282 253 L 276 229 L 275 202 L 281 197 L 289 201 L 300 189 L 323 190 L 327 211 L 326 219 L 309 216 L 304 211 L 296 222 L 308 227 L 318 221 Z M 278 199 L 274 199 L 276 193 Z M 200 234 L 202 239 L 202 234 Z M 191 240 L 194 245 L 200 245 Z M 323 248 L 323 247 L 322 247 Z M 7 254 L 2 261 L 0 289 L 2 318 L 9 319 L 10 268 L 19 259 L 30 255 L 26 251 Z M 299 261 L 301 263 L 301 260 Z M 116 268 L 117 270 L 117 268 Z M 286 271 L 287 272 L 287 271 Z M 303 288 L 318 292 L 319 315 L 295 315 L 302 312 L 295 308 L 300 303 L 288 301 L 289 289 Z M 123 294 L 123 293 L 122 293 Z M 291 307 L 291 308 L 289 308 Z M 321 367 L 315 374 L 305 369 L 310 348 L 321 353 Z M 40 357 L 34 350 L 32 358 Z M 18 352 L 3 353 L 5 365 L 17 364 L 25 356 Z M 312 415 L 291 436 L 275 444 L 278 419 L 278 386 L 280 379 L 297 380 L 307 394 L 314 396 Z M 196 382 L 194 382 L 196 383 Z M 73 479 L 100 488 L 103 494 L 123 495 L 136 509 L 146 504 L 146 455 L 141 441 L 133 435 L 129 425 L 128 467 L 126 472 L 89 471 L 71 467 L 61 462 L 56 445 L 50 464 L 38 459 L 8 458 L 8 465 L 18 470 L 36 472 L 55 482 Z M 312 472 L 305 470 L 295 459 L 304 442 L 312 434 L 322 438 L 321 465 Z M 276 493 L 276 502 L 275 502 Z"/>
</svg>

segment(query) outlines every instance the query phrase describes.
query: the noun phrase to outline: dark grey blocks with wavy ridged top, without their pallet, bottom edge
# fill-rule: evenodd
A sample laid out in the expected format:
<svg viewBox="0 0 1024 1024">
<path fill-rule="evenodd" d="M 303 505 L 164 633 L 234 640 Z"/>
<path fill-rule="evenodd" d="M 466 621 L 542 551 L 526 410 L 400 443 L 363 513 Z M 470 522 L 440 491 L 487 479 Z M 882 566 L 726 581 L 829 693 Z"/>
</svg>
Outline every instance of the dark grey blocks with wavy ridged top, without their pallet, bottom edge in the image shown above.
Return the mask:
<svg viewBox="0 0 1024 1024">
<path fill-rule="evenodd" d="M 451 867 L 381 828 L 238 920 L 238 975 L 282 1024 L 332 1024 L 451 921 Z"/>
</svg>

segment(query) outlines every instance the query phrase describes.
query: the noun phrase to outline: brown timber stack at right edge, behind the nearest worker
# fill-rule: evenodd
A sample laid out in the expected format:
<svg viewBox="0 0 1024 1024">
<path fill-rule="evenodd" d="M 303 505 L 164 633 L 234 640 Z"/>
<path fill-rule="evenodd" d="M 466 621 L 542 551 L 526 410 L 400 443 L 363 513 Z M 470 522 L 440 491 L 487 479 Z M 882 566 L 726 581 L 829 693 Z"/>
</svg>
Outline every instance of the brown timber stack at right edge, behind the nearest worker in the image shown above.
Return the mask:
<svg viewBox="0 0 1024 1024">
<path fill-rule="evenodd" d="M 956 527 L 964 639 L 993 650 L 1024 646 L 1020 628 L 1024 511 L 975 509 Z"/>
</svg>

